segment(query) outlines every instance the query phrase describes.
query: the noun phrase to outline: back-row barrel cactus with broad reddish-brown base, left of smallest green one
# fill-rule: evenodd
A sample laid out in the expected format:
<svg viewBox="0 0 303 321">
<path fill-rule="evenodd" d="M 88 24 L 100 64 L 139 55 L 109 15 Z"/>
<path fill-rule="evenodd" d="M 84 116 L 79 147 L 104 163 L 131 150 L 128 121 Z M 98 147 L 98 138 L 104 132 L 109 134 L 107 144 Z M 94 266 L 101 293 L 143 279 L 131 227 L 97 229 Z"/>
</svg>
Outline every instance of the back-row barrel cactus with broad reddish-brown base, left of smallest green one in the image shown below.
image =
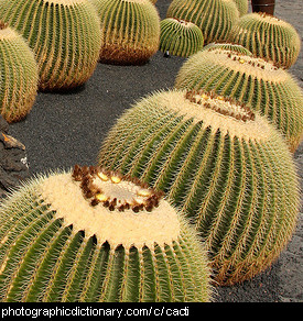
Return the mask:
<svg viewBox="0 0 303 321">
<path fill-rule="evenodd" d="M 90 0 L 101 20 L 100 62 L 141 65 L 159 48 L 160 16 L 150 0 Z"/>
</svg>

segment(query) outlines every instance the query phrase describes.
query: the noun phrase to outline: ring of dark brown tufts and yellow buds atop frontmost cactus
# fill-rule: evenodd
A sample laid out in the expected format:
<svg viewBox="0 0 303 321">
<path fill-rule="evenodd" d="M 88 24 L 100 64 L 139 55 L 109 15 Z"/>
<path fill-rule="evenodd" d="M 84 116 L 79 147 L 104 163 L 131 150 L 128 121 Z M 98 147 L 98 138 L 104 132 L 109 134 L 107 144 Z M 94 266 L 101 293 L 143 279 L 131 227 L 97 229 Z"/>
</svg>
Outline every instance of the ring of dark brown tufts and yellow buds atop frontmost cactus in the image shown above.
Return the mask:
<svg viewBox="0 0 303 321">
<path fill-rule="evenodd" d="M 151 212 L 153 208 L 159 206 L 160 199 L 163 197 L 163 192 L 149 188 L 147 184 L 141 182 L 136 177 L 123 176 L 118 171 L 115 173 L 112 170 L 107 170 L 99 166 L 80 167 L 79 165 L 75 165 L 72 177 L 75 181 L 80 181 L 83 193 L 86 199 L 91 199 L 90 204 L 93 207 L 101 203 L 110 211 L 118 209 L 118 211 L 122 212 L 131 209 L 136 213 L 143 210 Z M 104 195 L 104 191 L 94 185 L 94 178 L 96 177 L 104 181 L 110 180 L 112 184 L 120 184 L 121 181 L 131 182 L 142 189 L 139 196 L 144 197 L 145 199 L 142 202 L 136 200 L 123 200 L 122 202 L 117 203 L 117 198 L 110 198 L 109 196 Z"/>
</svg>

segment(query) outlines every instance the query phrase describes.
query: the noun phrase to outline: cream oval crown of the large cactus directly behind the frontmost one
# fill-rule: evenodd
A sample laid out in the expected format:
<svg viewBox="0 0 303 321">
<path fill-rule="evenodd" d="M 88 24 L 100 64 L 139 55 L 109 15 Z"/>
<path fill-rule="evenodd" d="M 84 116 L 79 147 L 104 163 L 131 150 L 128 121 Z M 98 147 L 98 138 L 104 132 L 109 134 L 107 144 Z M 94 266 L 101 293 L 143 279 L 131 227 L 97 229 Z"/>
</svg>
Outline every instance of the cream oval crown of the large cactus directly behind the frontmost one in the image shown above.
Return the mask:
<svg viewBox="0 0 303 321">
<path fill-rule="evenodd" d="M 213 91 L 175 90 L 163 97 L 170 109 L 184 119 L 191 119 L 194 123 L 203 122 L 206 128 L 219 130 L 223 134 L 260 141 L 267 140 L 271 133 L 271 128 L 258 113 Z"/>
</svg>

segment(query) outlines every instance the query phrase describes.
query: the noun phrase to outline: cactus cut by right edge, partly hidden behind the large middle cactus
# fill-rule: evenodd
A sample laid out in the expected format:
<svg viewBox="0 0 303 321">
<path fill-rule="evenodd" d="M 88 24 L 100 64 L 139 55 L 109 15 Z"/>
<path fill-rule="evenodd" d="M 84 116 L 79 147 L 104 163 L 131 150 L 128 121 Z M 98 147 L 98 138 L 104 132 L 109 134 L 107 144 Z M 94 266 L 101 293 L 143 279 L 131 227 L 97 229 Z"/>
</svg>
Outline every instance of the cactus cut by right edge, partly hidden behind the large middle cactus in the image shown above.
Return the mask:
<svg viewBox="0 0 303 321">
<path fill-rule="evenodd" d="M 231 97 L 266 115 L 294 152 L 303 136 L 303 91 L 295 78 L 270 62 L 224 48 L 193 55 L 181 67 L 177 89 L 204 89 Z"/>
</svg>

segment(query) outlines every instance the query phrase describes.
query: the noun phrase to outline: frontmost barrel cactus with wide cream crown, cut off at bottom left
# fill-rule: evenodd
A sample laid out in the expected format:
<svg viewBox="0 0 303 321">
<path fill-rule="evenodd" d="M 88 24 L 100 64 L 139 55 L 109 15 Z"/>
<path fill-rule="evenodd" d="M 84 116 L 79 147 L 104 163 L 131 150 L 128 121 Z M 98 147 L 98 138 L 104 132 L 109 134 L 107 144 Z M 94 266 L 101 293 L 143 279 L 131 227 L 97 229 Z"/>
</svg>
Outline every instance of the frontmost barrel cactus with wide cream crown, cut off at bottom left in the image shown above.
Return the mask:
<svg viewBox="0 0 303 321">
<path fill-rule="evenodd" d="M 195 230 L 138 179 L 75 166 L 0 208 L 1 301 L 209 301 Z"/>
</svg>

